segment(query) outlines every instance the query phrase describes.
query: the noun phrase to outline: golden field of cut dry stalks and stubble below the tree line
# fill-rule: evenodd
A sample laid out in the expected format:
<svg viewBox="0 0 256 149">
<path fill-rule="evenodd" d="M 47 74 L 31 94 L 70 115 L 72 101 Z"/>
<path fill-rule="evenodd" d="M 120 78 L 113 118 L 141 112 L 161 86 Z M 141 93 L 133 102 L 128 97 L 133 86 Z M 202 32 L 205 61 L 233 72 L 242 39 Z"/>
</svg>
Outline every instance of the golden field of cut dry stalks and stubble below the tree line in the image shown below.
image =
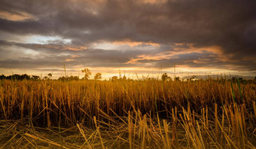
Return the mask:
<svg viewBox="0 0 256 149">
<path fill-rule="evenodd" d="M 256 84 L 0 81 L 0 148 L 255 148 Z"/>
</svg>

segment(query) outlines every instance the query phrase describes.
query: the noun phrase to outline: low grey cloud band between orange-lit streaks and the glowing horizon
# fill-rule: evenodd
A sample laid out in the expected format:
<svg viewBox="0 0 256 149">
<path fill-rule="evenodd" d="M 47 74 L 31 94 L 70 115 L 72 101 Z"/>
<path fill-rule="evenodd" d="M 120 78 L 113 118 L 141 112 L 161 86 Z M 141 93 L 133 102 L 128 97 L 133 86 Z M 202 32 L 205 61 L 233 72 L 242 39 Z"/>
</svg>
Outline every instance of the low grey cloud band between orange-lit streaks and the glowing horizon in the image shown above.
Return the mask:
<svg viewBox="0 0 256 149">
<path fill-rule="evenodd" d="M 0 68 L 35 69 L 38 66 L 41 68 L 62 68 L 63 63 L 68 68 L 75 68 L 76 66 L 170 68 L 175 64 L 194 68 L 209 67 L 254 71 L 253 60 L 244 59 L 236 62 L 222 62 L 218 54 L 207 51 L 203 53 L 180 53 L 163 59 L 155 59 L 154 56 L 159 55 L 155 50 L 67 50 L 65 47 L 62 47 L 62 44 L 20 44 L 6 41 L 0 41 L 0 45 L 7 47 L 0 49 L 2 59 L 4 59 L 0 61 Z M 12 59 L 11 55 L 14 54 L 14 51 L 8 51 L 9 46 L 12 46 L 12 49 L 22 48 L 19 50 L 17 59 Z M 26 52 L 28 49 L 31 50 L 29 53 Z M 40 53 L 33 55 L 33 53 L 38 51 Z M 131 59 L 137 60 L 133 63 L 130 62 Z M 151 65 L 146 65 L 148 63 Z M 247 65 L 247 67 L 245 68 L 243 65 Z M 231 66 L 232 68 L 230 68 Z"/>
</svg>

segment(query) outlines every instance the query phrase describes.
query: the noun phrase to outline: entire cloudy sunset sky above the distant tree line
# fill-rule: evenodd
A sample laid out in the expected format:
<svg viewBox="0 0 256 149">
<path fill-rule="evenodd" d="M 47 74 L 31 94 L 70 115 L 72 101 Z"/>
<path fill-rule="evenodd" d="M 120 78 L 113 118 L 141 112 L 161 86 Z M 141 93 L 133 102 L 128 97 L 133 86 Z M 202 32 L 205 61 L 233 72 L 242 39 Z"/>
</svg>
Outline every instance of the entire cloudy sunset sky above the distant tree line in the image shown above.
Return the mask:
<svg viewBox="0 0 256 149">
<path fill-rule="evenodd" d="M 256 75 L 254 0 L 0 3 L 0 74 Z"/>
</svg>

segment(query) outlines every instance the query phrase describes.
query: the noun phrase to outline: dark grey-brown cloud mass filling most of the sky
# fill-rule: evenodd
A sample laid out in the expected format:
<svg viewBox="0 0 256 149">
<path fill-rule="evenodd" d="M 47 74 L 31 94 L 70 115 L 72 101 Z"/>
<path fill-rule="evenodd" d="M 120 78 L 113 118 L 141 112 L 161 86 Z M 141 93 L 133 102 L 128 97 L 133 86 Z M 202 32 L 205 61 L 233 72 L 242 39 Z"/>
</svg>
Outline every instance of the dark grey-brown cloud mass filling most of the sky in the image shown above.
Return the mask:
<svg viewBox="0 0 256 149">
<path fill-rule="evenodd" d="M 6 47 L 22 47 L 41 53 L 39 59 L 0 59 L 0 67 L 39 67 L 67 65 L 128 67 L 170 67 L 172 63 L 190 67 L 227 68 L 255 71 L 256 59 L 256 1 L 251 0 L 181 0 L 143 3 L 131 0 L 110 1 L 32 1 L 1 0 L 0 10 L 9 14 L 32 16 L 26 20 L 0 19 L 0 30 L 14 35 L 45 35 L 70 39 L 70 44 L 51 41 L 47 44 L 26 44 L 0 41 L 0 52 Z M 160 44 L 157 50 L 90 48 L 91 44 L 105 41 L 130 40 Z M 175 47 L 194 50 L 203 47 L 221 47 L 221 53 L 183 53 L 176 58 L 130 59 L 173 51 Z M 66 47 L 88 47 L 71 50 Z M 140 45 L 142 47 L 142 45 Z M 182 47 L 182 48 L 181 48 Z M 2 50 L 1 50 L 2 49 Z M 5 49 L 5 52 L 3 52 Z M 28 53 L 24 57 L 29 56 Z M 226 61 L 222 57 L 228 55 Z M 73 56 L 73 57 L 72 57 Z M 75 57 L 74 57 L 75 56 Z M 20 56 L 22 57 L 22 56 Z M 128 63 L 127 63 L 128 62 Z M 29 65 L 28 63 L 32 63 Z M 232 66 L 233 65 L 233 66 Z"/>
</svg>

